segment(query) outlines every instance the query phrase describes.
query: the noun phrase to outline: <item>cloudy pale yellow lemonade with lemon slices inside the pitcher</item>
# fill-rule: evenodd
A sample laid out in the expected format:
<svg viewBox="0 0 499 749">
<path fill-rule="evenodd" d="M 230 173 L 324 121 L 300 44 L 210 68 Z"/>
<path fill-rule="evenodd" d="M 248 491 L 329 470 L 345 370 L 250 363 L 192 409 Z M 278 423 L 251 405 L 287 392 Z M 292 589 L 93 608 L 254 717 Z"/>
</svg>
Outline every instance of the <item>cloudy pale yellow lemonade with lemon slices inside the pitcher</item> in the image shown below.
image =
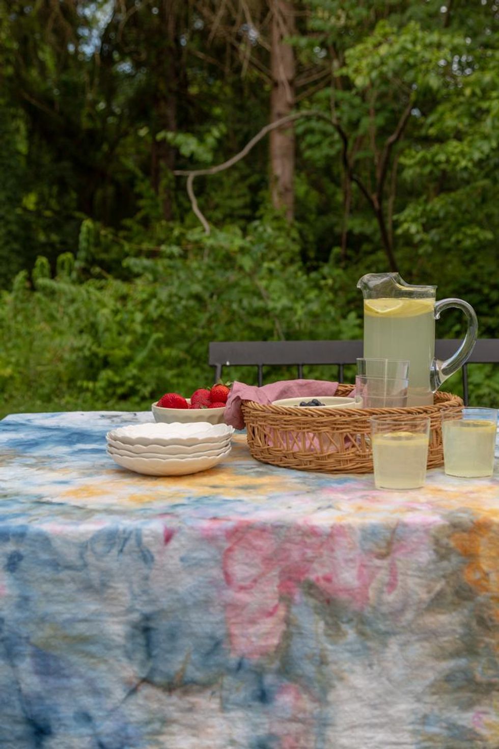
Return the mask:
<svg viewBox="0 0 499 749">
<path fill-rule="evenodd" d="M 435 357 L 435 300 L 364 300 L 364 357 L 410 362 L 408 405 L 433 402 L 429 375 Z"/>
</svg>

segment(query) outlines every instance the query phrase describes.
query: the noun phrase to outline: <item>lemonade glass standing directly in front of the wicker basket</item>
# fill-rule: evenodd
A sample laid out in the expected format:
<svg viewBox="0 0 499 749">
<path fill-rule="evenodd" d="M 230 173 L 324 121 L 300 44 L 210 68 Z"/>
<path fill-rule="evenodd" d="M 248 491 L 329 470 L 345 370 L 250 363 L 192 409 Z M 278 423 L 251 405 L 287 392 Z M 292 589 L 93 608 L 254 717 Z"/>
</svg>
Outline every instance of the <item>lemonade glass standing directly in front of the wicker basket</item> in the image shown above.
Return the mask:
<svg viewBox="0 0 499 749">
<path fill-rule="evenodd" d="M 377 489 L 417 489 L 424 485 L 429 419 L 375 416 L 371 421 L 374 485 Z"/>
</svg>

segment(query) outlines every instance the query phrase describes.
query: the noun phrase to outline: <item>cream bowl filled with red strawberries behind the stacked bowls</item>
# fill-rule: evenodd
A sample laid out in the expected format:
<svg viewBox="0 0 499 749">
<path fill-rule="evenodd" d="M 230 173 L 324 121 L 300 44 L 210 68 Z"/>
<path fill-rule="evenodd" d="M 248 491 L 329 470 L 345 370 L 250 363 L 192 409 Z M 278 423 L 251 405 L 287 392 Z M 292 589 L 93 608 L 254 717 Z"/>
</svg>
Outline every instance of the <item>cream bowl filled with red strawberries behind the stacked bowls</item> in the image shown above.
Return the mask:
<svg viewBox="0 0 499 749">
<path fill-rule="evenodd" d="M 165 392 L 152 410 L 156 422 L 208 422 L 223 424 L 224 410 L 230 388 L 217 383 L 211 388 L 198 387 L 190 398 L 184 398 L 178 392 Z"/>
</svg>

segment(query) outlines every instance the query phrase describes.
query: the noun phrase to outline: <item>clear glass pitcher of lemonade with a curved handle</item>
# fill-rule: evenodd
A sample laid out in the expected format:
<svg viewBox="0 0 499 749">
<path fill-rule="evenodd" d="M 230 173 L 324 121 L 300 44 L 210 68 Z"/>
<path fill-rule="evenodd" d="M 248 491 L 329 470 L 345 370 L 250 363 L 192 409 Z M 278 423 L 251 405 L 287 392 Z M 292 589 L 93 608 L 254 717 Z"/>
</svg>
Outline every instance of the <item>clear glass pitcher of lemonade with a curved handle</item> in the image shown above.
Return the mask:
<svg viewBox="0 0 499 749">
<path fill-rule="evenodd" d="M 364 357 L 409 361 L 408 406 L 433 403 L 433 393 L 468 359 L 477 340 L 473 307 L 462 299 L 435 302 L 436 286 L 411 286 L 399 273 L 367 273 L 357 288 L 364 294 Z M 435 359 L 435 320 L 448 307 L 462 309 L 465 339 L 450 359 Z"/>
</svg>

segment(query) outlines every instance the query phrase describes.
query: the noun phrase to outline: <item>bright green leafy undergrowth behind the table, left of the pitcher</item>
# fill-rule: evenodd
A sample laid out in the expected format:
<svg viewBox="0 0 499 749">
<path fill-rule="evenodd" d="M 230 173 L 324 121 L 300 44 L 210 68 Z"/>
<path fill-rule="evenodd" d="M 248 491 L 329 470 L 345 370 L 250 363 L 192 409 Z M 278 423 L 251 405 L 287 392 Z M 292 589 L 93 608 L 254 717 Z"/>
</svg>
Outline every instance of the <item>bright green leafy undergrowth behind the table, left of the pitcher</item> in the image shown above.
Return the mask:
<svg viewBox="0 0 499 749">
<path fill-rule="evenodd" d="M 2 399 L 148 407 L 211 379 L 211 340 L 358 337 L 358 316 L 340 314 L 343 271 L 305 273 L 295 242 L 269 222 L 186 231 L 154 258 L 129 255 L 128 282 L 74 282 L 69 253 L 52 278 L 38 258 L 33 287 L 23 272 L 1 301 Z"/>
</svg>

